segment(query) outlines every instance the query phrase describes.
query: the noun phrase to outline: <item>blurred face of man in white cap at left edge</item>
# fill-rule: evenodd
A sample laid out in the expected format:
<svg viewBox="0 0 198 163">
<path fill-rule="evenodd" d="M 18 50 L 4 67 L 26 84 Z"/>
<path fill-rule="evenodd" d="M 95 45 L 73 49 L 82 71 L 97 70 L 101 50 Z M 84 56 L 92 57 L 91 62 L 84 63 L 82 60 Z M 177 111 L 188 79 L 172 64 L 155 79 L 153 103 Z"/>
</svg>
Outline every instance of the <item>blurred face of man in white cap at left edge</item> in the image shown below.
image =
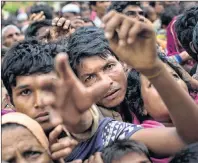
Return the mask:
<svg viewBox="0 0 198 163">
<path fill-rule="evenodd" d="M 10 27 L 5 31 L 3 39 L 3 45 L 11 47 L 14 43 L 22 41 L 24 36 L 17 29 Z"/>
</svg>

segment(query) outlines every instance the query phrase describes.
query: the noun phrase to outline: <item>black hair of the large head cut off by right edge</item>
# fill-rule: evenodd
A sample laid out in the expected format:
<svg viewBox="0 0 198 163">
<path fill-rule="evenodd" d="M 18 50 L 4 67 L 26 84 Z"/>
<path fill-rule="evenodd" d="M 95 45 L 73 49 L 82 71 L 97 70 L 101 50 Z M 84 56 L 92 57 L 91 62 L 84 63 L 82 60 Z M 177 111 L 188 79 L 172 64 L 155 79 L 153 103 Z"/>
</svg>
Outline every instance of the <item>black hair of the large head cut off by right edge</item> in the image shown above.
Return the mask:
<svg viewBox="0 0 198 163">
<path fill-rule="evenodd" d="M 197 59 L 197 53 L 194 53 L 189 43 L 193 38 L 193 29 L 198 22 L 198 6 L 192 7 L 186 10 L 182 15 L 180 15 L 175 22 L 175 32 L 177 38 L 180 41 L 182 47 L 189 53 L 189 55 Z"/>
</svg>

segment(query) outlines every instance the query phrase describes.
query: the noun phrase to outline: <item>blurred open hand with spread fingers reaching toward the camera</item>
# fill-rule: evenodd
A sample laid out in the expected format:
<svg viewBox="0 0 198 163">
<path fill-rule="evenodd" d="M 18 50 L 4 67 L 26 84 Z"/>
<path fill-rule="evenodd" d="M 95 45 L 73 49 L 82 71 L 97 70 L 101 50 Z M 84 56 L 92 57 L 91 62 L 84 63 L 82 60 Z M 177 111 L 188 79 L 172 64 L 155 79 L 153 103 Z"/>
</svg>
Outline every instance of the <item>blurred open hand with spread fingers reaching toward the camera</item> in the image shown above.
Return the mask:
<svg viewBox="0 0 198 163">
<path fill-rule="evenodd" d="M 55 108 L 67 129 L 76 133 L 76 126 L 85 125 L 80 123 L 82 119 L 84 123 L 92 123 L 88 110 L 107 93 L 112 83 L 101 79 L 98 84 L 86 88 L 73 73 L 65 53 L 57 55 L 55 65 L 59 78 L 54 81 L 48 78 L 39 81 L 40 86 L 48 90 L 43 103 Z"/>
</svg>

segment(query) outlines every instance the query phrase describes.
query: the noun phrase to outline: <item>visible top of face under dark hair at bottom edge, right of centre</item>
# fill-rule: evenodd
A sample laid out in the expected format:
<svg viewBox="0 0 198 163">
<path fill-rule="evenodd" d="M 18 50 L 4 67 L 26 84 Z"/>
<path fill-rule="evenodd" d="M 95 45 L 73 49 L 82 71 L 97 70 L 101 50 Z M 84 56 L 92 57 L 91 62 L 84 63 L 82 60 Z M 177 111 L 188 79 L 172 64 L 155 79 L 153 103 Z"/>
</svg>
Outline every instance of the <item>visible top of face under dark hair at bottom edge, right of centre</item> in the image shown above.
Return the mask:
<svg viewBox="0 0 198 163">
<path fill-rule="evenodd" d="M 138 153 L 128 153 L 118 160 L 113 160 L 112 163 L 151 163 L 151 161 L 144 155 Z"/>
</svg>

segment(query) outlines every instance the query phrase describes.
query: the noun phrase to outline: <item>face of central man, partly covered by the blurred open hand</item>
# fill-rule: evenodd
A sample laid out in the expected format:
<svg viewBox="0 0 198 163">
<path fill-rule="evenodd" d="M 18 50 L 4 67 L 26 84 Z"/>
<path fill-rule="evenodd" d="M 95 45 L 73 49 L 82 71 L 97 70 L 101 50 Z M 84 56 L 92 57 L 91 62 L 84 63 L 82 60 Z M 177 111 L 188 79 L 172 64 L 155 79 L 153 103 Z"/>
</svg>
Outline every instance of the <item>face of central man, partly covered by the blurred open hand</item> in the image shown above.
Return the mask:
<svg viewBox="0 0 198 163">
<path fill-rule="evenodd" d="M 98 101 L 98 105 L 111 108 L 119 105 L 125 97 L 127 77 L 121 63 L 113 56 L 83 58 L 77 66 L 77 75 L 83 84 L 90 87 L 100 80 L 111 81 L 107 94 Z"/>
</svg>

